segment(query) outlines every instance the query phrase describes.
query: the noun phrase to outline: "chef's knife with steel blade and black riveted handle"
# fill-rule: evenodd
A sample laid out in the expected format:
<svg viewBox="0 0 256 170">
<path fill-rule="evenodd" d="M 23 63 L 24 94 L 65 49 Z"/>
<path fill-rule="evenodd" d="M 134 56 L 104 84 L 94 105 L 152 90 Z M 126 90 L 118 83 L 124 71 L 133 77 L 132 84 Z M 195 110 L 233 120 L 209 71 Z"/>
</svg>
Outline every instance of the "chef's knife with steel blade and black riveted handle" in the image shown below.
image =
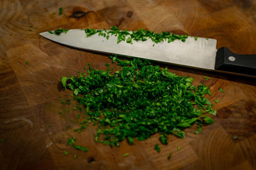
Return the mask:
<svg viewBox="0 0 256 170">
<path fill-rule="evenodd" d="M 167 41 L 154 43 L 148 39 L 147 41 L 132 41 L 133 44 L 130 44 L 126 41 L 117 43 L 117 36 L 111 34 L 108 39 L 98 34 L 86 36 L 84 30 L 81 29 L 70 29 L 59 35 L 52 34 L 52 32 L 42 32 L 40 35 L 57 43 L 83 50 L 256 76 L 256 55 L 237 55 L 225 47 L 216 50 L 216 39 L 196 39 L 189 36 L 185 42 L 176 39 L 170 43 Z"/>
</svg>

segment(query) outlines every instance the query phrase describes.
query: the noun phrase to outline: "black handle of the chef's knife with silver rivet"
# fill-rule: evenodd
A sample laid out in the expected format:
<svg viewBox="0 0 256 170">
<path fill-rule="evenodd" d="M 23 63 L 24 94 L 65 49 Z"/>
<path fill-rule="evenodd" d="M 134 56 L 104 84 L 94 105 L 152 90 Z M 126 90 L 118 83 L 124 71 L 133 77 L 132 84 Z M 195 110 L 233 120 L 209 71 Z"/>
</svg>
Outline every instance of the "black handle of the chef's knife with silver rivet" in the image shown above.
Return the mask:
<svg viewBox="0 0 256 170">
<path fill-rule="evenodd" d="M 256 55 L 238 55 L 221 47 L 217 51 L 215 69 L 256 76 Z"/>
</svg>

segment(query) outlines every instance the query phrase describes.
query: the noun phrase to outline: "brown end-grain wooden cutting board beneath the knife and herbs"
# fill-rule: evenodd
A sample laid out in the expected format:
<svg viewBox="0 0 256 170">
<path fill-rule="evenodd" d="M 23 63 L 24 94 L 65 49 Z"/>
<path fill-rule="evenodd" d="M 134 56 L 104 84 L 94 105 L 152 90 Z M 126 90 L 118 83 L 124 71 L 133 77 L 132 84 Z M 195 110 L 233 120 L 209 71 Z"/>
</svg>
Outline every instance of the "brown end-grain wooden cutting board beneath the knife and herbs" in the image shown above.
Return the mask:
<svg viewBox="0 0 256 170">
<path fill-rule="evenodd" d="M 60 7 L 62 15 L 58 15 Z M 93 141 L 96 127 L 81 134 L 69 128 L 77 126 L 77 111 L 61 115 L 58 111 L 68 107 L 59 98 L 71 98 L 70 91 L 61 89 L 62 76 L 84 71 L 89 62 L 106 69 L 111 60 L 38 35 L 59 27 L 143 27 L 218 39 L 218 48 L 249 54 L 256 53 L 255 11 L 253 0 L 1 0 L 0 169 L 256 169 L 255 79 L 161 64 L 180 76 L 195 78 L 195 85 L 210 87 L 212 95 L 207 98 L 212 103 L 221 100 L 214 104 L 218 112 L 214 124 L 200 134 L 194 134 L 195 128 L 186 129 L 185 139 L 170 136 L 167 146 L 160 145 L 160 153 L 154 150 L 159 134 L 132 146 L 123 141 L 120 148 L 110 148 Z M 89 151 L 68 146 L 71 136 Z M 123 157 L 124 153 L 129 156 Z"/>
</svg>

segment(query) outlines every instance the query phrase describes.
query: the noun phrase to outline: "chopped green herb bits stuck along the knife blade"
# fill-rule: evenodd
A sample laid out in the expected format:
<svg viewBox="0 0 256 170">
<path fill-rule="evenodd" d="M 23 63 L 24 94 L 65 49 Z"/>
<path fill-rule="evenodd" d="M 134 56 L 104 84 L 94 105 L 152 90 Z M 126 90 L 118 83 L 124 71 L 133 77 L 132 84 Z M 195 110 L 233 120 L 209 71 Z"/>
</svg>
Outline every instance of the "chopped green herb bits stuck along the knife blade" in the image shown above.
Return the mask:
<svg viewBox="0 0 256 170">
<path fill-rule="evenodd" d="M 68 29 L 58 29 L 56 31 L 48 31 L 51 34 L 60 35 L 61 33 L 67 33 Z M 135 41 L 147 41 L 147 39 L 151 39 L 154 43 L 159 43 L 163 41 L 168 41 L 168 43 L 174 41 L 175 39 L 179 39 L 182 42 L 185 42 L 188 38 L 188 34 L 186 35 L 178 35 L 178 34 L 172 34 L 170 32 L 161 32 L 156 33 L 154 31 L 148 31 L 147 29 L 138 29 L 137 31 L 127 31 L 125 29 L 124 31 L 120 31 L 118 27 L 111 27 L 111 30 L 107 29 L 84 29 L 84 32 L 86 33 L 86 36 L 92 36 L 93 34 L 99 34 L 99 36 L 104 36 L 106 39 L 109 39 L 109 35 L 117 36 L 117 43 L 120 43 L 121 41 L 125 41 L 127 43 L 132 44 L 132 40 Z M 195 38 L 196 40 L 197 38 Z"/>
</svg>

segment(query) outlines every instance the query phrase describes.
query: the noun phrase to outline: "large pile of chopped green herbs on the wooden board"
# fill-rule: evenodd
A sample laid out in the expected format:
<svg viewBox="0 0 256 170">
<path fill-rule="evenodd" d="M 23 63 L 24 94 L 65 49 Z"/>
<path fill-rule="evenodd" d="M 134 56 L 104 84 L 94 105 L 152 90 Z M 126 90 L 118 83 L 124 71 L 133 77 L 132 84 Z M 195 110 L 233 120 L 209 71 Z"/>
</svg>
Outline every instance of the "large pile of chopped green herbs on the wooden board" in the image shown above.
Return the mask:
<svg viewBox="0 0 256 170">
<path fill-rule="evenodd" d="M 211 102 L 209 87 L 192 85 L 193 78 L 180 77 L 153 66 L 148 60 L 120 60 L 120 71 L 112 73 L 109 64 L 106 71 L 93 69 L 70 78 L 63 77 L 63 87 L 74 91 L 77 109 L 84 111 L 86 120 L 81 132 L 90 122 L 99 125 L 95 141 L 111 146 L 127 139 L 143 141 L 152 134 L 161 134 L 159 140 L 168 144 L 168 135 L 185 137 L 183 131 L 196 124 L 195 133 L 202 131 L 203 123 L 214 121 L 205 113 L 216 115 Z"/>
</svg>

